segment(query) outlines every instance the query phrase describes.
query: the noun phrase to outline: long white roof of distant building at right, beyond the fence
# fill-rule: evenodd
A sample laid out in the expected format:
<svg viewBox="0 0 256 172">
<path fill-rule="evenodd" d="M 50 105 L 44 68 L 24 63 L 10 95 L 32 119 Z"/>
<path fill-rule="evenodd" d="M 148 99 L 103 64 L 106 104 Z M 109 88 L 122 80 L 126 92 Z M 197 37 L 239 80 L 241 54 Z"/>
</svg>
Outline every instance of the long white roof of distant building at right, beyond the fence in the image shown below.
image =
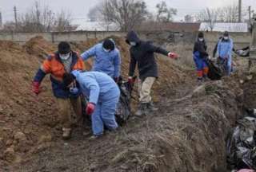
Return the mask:
<svg viewBox="0 0 256 172">
<path fill-rule="evenodd" d="M 199 31 L 214 31 L 214 32 L 248 32 L 247 23 L 228 23 L 216 22 L 210 25 L 208 22 L 202 22 Z"/>
</svg>

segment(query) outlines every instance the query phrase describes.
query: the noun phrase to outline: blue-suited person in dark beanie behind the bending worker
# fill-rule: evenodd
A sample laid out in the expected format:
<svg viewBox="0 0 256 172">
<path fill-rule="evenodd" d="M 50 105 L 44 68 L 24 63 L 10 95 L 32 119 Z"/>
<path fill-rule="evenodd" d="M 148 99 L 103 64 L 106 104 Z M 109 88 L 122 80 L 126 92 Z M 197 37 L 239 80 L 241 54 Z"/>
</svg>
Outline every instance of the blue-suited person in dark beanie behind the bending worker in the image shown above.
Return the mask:
<svg viewBox="0 0 256 172">
<path fill-rule="evenodd" d="M 121 57 L 119 50 L 114 44 L 114 40 L 106 39 L 82 53 L 81 56 L 83 61 L 90 57 L 95 57 L 92 71 L 104 72 L 118 82 Z"/>
</svg>

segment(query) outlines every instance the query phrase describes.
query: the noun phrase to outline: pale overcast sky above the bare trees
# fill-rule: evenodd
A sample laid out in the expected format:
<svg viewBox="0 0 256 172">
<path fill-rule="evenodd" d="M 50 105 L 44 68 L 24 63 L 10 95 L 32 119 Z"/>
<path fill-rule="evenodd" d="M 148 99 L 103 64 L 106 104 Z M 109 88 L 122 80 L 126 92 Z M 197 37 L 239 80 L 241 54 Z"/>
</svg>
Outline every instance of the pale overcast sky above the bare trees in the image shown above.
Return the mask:
<svg viewBox="0 0 256 172">
<path fill-rule="evenodd" d="M 73 18 L 87 18 L 88 10 L 102 0 L 39 0 L 42 5 L 48 5 L 57 13 L 59 10 L 69 10 Z M 154 10 L 160 0 L 145 0 L 149 10 Z M 14 20 L 14 6 L 17 6 L 18 14 L 30 9 L 34 0 L 0 0 L 3 22 Z M 170 7 L 178 10 L 175 21 L 180 21 L 186 14 L 197 14 L 206 7 L 214 8 L 238 3 L 238 0 L 166 0 Z M 242 0 L 242 10 L 245 12 L 248 6 L 256 11 L 256 0 Z"/>
</svg>

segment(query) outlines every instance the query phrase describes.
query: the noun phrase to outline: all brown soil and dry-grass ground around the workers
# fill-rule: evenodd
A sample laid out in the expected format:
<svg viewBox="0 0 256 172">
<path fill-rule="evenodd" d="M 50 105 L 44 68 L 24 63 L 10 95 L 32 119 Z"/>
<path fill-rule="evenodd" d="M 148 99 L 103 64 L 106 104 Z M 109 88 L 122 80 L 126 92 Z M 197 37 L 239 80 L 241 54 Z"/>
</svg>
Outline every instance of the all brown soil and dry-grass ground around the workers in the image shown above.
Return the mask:
<svg viewBox="0 0 256 172">
<path fill-rule="evenodd" d="M 129 48 L 122 38 L 114 40 L 126 77 Z M 95 42 L 72 45 L 83 51 Z M 40 96 L 30 92 L 42 57 L 56 46 L 36 37 L 23 47 L 0 41 L 0 48 L 0 171 L 226 170 L 226 134 L 242 109 L 238 76 L 198 87 L 193 72 L 158 57 L 157 112 L 132 117 L 101 139 L 90 140 L 77 127 L 64 142 L 50 81 L 44 80 Z"/>
</svg>

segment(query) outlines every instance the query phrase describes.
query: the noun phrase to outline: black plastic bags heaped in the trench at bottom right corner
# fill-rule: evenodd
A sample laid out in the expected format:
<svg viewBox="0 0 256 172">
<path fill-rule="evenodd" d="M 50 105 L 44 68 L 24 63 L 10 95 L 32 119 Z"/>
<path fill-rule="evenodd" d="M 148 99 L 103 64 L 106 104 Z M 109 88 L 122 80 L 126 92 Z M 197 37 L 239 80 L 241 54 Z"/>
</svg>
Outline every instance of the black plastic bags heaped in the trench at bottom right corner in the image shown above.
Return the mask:
<svg viewBox="0 0 256 172">
<path fill-rule="evenodd" d="M 256 118 L 247 116 L 228 135 L 226 158 L 231 170 L 250 168 L 256 170 Z"/>
</svg>

